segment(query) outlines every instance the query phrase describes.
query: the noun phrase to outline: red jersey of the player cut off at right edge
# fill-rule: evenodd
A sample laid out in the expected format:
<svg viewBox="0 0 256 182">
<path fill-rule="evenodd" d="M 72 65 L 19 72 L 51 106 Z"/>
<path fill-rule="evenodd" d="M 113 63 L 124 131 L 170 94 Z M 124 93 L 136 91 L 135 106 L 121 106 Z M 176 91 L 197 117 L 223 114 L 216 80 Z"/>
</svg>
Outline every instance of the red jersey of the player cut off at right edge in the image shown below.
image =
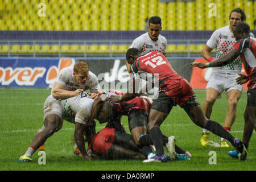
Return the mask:
<svg viewBox="0 0 256 182">
<path fill-rule="evenodd" d="M 241 53 L 245 72 L 249 77 L 248 89 L 256 89 L 256 39 L 249 37 L 238 40 L 234 44 L 234 49 L 237 49 Z"/>
</svg>

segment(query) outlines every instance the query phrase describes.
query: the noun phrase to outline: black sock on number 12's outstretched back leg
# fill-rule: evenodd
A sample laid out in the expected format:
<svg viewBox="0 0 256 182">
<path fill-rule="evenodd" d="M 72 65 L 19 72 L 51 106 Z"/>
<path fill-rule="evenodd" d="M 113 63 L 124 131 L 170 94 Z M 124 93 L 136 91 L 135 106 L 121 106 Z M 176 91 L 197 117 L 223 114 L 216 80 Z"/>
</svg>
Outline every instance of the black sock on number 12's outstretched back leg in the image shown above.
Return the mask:
<svg viewBox="0 0 256 182">
<path fill-rule="evenodd" d="M 228 131 L 226 131 L 224 127 L 222 127 L 219 123 L 209 120 L 205 129 L 211 131 L 213 134 L 218 135 L 218 137 L 225 138 L 233 144 L 234 137 Z"/>
</svg>

